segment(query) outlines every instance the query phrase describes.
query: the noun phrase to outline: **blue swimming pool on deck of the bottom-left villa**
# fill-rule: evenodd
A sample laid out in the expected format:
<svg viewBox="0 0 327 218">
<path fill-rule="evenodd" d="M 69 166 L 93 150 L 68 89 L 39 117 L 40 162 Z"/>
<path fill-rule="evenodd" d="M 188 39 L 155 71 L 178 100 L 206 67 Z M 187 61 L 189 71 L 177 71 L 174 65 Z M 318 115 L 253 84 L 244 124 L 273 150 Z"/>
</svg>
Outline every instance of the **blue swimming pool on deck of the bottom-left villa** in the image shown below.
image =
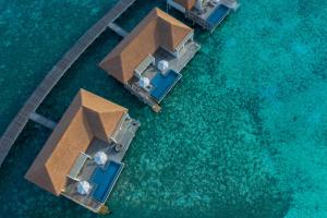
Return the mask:
<svg viewBox="0 0 327 218">
<path fill-rule="evenodd" d="M 100 203 L 105 203 L 109 196 L 123 165 L 110 161 L 106 168 L 98 167 L 92 175 L 92 182 L 96 184 L 96 189 L 92 197 Z"/>
</svg>

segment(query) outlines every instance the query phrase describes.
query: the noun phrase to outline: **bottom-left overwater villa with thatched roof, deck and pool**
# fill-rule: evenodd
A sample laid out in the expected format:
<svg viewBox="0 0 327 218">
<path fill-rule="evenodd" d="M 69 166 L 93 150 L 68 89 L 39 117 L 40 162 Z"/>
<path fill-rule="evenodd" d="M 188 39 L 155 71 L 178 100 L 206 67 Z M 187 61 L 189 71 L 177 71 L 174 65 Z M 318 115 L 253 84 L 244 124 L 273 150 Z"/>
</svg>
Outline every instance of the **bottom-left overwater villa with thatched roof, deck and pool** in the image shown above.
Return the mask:
<svg viewBox="0 0 327 218">
<path fill-rule="evenodd" d="M 128 109 L 81 89 L 25 178 L 56 196 L 105 211 L 138 126 Z"/>
</svg>

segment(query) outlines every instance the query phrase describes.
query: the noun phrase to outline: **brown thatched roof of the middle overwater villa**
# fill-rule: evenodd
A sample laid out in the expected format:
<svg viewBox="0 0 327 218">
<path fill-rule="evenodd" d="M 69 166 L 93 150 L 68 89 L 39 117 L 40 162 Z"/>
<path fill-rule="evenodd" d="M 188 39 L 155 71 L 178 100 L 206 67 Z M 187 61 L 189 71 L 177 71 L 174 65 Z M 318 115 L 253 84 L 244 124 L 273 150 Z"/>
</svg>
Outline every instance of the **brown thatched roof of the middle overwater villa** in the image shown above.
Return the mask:
<svg viewBox="0 0 327 218">
<path fill-rule="evenodd" d="M 121 83 L 159 47 L 171 52 L 193 32 L 159 9 L 154 9 L 101 62 L 100 66 Z"/>
</svg>

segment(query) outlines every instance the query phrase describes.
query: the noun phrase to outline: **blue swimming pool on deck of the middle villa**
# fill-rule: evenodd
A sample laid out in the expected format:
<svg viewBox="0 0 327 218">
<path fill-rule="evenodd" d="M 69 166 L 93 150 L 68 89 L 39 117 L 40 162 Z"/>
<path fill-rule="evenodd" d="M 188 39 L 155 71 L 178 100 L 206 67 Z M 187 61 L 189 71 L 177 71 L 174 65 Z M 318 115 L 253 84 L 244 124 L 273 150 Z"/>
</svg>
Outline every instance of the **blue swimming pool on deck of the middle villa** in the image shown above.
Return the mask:
<svg viewBox="0 0 327 218">
<path fill-rule="evenodd" d="M 158 72 L 150 82 L 153 85 L 150 96 L 160 102 L 181 76 L 173 70 L 168 71 L 165 75 Z"/>
</svg>

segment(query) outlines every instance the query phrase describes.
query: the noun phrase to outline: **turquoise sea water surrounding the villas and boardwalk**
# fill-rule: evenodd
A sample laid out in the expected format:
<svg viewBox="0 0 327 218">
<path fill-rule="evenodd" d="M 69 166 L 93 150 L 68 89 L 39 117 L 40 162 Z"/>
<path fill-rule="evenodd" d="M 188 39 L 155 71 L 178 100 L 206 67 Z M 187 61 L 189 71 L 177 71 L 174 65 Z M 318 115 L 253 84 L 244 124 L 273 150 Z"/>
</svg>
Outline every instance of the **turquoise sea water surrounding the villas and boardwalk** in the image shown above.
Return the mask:
<svg viewBox="0 0 327 218">
<path fill-rule="evenodd" d="M 114 0 L 0 0 L 0 132 Z M 38 112 L 59 120 L 80 87 L 142 122 L 107 203 L 110 217 L 327 217 L 327 2 L 243 0 L 155 114 L 97 63 L 106 32 Z M 162 1 L 140 0 L 131 29 Z M 178 15 L 178 14 L 175 14 Z M 181 17 L 181 16 L 180 16 Z M 97 217 L 24 180 L 50 131 L 28 123 L 0 169 L 0 217 Z"/>
</svg>

